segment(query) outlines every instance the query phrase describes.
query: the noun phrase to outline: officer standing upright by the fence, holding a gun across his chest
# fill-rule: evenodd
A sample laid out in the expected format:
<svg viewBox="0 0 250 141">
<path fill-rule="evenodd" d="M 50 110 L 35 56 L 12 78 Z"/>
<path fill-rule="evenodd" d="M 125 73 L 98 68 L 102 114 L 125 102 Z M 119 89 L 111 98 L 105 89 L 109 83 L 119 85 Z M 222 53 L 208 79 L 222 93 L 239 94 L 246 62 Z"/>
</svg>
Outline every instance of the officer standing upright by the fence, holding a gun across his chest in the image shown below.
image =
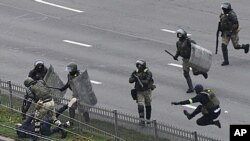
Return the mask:
<svg viewBox="0 0 250 141">
<path fill-rule="evenodd" d="M 153 85 L 153 78 L 151 71 L 146 67 L 146 61 L 137 60 L 136 61 L 137 70 L 135 70 L 130 78 L 129 83 L 135 83 L 135 90 L 137 93 L 137 104 L 138 104 L 138 113 L 141 119 L 144 119 L 144 105 L 146 108 L 146 119 L 150 120 L 151 117 L 151 94 L 152 89 L 155 88 Z M 141 125 L 144 125 L 145 122 L 140 121 Z"/>
</svg>

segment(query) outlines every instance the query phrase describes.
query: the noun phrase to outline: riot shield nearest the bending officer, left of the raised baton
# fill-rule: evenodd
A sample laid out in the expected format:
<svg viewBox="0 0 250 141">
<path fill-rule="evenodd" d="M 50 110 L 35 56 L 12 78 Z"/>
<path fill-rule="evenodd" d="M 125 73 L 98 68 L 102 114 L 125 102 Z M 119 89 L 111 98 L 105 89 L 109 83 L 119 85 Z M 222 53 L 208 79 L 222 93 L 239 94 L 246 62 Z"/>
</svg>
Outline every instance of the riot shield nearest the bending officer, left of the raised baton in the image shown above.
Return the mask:
<svg viewBox="0 0 250 141">
<path fill-rule="evenodd" d="M 64 86 L 63 81 L 59 78 L 58 74 L 54 71 L 54 68 L 52 65 L 50 65 L 45 77 L 44 77 L 44 81 L 46 82 L 46 85 L 48 87 L 51 87 L 51 92 L 54 96 L 54 100 L 55 102 L 59 102 L 58 98 L 64 97 L 66 91 L 59 91 L 58 89 L 54 89 L 54 88 L 62 88 Z M 58 97 L 58 98 L 56 98 Z"/>
</svg>

